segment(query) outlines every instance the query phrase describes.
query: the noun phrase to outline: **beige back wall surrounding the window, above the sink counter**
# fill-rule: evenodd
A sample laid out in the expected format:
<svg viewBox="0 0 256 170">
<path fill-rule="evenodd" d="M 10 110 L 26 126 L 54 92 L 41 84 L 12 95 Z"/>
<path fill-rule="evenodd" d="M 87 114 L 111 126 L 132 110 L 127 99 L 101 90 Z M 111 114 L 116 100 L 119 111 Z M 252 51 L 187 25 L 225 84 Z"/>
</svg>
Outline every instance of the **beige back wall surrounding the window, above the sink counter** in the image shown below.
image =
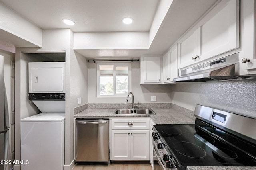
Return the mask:
<svg viewBox="0 0 256 170">
<path fill-rule="evenodd" d="M 125 103 L 126 97 L 100 98 L 96 97 L 97 72 L 96 63 L 88 63 L 88 103 Z M 140 63 L 132 62 L 132 93 L 134 102 L 139 103 L 169 103 L 171 101 L 171 85 L 140 84 Z M 150 96 L 156 96 L 156 102 L 150 102 Z M 132 102 L 131 97 L 129 103 Z"/>
</svg>

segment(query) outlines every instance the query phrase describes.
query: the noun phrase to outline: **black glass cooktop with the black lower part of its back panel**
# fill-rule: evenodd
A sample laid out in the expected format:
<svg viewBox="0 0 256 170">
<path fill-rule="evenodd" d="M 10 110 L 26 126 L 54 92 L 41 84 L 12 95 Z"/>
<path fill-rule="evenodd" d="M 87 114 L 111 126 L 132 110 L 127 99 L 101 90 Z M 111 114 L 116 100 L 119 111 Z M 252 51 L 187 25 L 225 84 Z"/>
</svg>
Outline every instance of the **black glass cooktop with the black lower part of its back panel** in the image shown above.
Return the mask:
<svg viewBox="0 0 256 170">
<path fill-rule="evenodd" d="M 256 145 L 204 122 L 154 125 L 179 166 L 256 166 Z"/>
</svg>

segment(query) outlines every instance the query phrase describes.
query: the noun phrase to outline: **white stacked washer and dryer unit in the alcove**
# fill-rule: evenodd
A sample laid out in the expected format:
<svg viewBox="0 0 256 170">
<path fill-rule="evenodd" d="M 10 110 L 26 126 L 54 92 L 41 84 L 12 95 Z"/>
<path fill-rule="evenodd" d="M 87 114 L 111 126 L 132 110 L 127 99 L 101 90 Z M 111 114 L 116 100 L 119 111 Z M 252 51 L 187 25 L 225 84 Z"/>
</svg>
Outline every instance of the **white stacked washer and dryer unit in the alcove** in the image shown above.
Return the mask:
<svg viewBox="0 0 256 170">
<path fill-rule="evenodd" d="M 28 98 L 42 113 L 21 119 L 21 170 L 63 170 L 65 62 L 32 62 L 28 68 Z"/>
</svg>

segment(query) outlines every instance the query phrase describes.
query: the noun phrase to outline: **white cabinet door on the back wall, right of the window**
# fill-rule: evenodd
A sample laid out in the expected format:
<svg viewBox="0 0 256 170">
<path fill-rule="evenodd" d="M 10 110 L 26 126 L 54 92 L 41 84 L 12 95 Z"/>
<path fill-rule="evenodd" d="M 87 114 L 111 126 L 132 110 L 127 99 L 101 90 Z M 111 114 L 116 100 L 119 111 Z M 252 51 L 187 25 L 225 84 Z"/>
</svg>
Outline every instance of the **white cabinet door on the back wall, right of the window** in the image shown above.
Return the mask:
<svg viewBox="0 0 256 170">
<path fill-rule="evenodd" d="M 144 83 L 160 83 L 161 57 L 144 57 Z"/>
</svg>

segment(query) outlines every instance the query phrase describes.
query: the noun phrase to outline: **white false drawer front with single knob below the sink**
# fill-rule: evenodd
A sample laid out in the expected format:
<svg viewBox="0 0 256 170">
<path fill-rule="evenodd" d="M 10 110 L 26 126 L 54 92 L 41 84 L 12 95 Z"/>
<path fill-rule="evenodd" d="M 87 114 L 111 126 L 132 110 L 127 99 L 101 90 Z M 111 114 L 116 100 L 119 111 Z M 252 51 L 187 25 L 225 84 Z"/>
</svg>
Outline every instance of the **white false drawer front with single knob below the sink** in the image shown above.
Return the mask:
<svg viewBox="0 0 256 170">
<path fill-rule="evenodd" d="M 111 129 L 149 129 L 148 119 L 112 119 Z"/>
</svg>

